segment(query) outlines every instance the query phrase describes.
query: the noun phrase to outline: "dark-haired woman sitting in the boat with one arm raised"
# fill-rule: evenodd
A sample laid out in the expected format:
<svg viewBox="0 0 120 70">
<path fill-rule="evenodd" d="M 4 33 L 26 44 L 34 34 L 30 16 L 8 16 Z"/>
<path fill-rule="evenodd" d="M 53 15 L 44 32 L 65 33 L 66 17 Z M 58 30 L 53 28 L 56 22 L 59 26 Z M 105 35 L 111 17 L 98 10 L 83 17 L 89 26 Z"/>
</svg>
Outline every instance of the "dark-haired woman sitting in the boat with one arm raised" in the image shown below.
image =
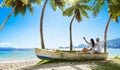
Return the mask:
<svg viewBox="0 0 120 70">
<path fill-rule="evenodd" d="M 86 40 L 86 38 L 85 37 L 83 37 L 83 39 L 85 40 L 85 42 L 87 43 L 87 44 L 89 44 L 89 46 L 90 46 L 90 49 L 87 49 L 87 48 L 83 48 L 83 52 L 90 52 L 90 53 L 94 53 L 95 52 L 95 42 L 94 42 L 94 40 L 93 40 L 93 38 L 91 38 L 90 39 L 90 43 Z"/>
</svg>

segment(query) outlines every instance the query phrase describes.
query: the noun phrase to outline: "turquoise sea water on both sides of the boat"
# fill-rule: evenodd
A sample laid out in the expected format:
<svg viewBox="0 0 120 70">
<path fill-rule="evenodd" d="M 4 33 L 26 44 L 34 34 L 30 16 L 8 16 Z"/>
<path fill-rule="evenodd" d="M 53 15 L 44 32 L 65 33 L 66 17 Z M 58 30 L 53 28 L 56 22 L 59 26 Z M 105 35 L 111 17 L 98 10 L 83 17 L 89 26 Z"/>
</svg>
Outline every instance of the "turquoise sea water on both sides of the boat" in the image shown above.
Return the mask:
<svg viewBox="0 0 120 70">
<path fill-rule="evenodd" d="M 109 57 L 116 55 L 120 56 L 120 49 L 107 49 Z M 1 60 L 23 60 L 23 59 L 37 59 L 34 50 L 28 51 L 0 51 Z"/>
</svg>

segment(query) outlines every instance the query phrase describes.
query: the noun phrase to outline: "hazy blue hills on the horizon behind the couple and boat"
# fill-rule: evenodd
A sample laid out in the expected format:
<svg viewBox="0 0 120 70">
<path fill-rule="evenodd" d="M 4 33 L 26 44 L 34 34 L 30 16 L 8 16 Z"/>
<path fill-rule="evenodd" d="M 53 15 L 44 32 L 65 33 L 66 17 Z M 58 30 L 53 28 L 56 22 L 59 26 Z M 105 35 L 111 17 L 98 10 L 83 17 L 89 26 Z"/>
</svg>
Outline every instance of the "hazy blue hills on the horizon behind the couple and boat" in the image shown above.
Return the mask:
<svg viewBox="0 0 120 70">
<path fill-rule="evenodd" d="M 114 49 L 120 49 L 120 38 L 113 39 L 113 40 L 108 40 L 107 42 L 108 48 L 114 48 Z M 78 46 L 74 46 L 74 48 L 88 48 L 89 46 L 86 44 L 80 44 Z M 59 47 L 60 49 L 65 49 L 69 47 Z"/>
</svg>

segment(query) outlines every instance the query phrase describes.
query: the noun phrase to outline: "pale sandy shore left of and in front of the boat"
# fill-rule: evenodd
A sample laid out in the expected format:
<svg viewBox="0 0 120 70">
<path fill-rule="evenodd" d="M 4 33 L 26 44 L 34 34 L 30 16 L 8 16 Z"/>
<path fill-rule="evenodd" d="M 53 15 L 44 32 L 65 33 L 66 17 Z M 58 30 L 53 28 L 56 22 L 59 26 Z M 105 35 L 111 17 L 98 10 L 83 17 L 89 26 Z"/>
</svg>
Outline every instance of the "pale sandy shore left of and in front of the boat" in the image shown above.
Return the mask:
<svg viewBox="0 0 120 70">
<path fill-rule="evenodd" d="M 1 61 L 0 70 L 91 70 L 91 66 L 97 66 L 94 61 L 47 63 L 35 66 L 38 62 L 40 60 L 37 59 Z"/>
</svg>

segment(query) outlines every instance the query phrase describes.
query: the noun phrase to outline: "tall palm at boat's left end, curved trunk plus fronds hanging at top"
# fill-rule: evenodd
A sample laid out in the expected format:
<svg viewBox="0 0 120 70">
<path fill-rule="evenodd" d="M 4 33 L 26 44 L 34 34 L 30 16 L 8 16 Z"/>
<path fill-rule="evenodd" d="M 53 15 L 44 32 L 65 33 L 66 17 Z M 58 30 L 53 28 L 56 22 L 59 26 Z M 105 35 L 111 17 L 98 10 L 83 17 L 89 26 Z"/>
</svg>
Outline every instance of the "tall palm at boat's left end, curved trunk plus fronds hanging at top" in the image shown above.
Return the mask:
<svg viewBox="0 0 120 70">
<path fill-rule="evenodd" d="M 63 9 L 64 0 L 51 0 L 50 2 L 54 11 L 57 9 L 57 7 L 59 7 L 60 9 Z M 41 38 L 42 49 L 45 49 L 44 37 L 43 37 L 43 18 L 44 18 L 44 12 L 45 12 L 47 3 L 48 3 L 48 0 L 45 0 L 42 8 L 42 12 L 41 12 L 41 17 L 40 17 L 40 38 Z"/>
</svg>

